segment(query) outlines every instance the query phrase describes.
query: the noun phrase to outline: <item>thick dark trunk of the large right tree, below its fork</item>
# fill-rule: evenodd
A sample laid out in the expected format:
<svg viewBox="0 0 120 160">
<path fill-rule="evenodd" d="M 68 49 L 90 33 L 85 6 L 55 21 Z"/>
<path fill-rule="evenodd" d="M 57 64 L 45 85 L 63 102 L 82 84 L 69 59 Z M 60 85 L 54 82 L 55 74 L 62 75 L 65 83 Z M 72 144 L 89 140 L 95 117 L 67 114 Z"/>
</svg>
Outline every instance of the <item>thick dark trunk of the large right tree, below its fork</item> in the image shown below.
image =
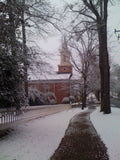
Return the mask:
<svg viewBox="0 0 120 160">
<path fill-rule="evenodd" d="M 107 50 L 107 26 L 103 22 L 98 29 L 99 52 L 100 52 L 100 74 L 101 74 L 101 111 L 105 114 L 111 113 L 110 108 L 110 72 L 109 57 Z"/>
</svg>

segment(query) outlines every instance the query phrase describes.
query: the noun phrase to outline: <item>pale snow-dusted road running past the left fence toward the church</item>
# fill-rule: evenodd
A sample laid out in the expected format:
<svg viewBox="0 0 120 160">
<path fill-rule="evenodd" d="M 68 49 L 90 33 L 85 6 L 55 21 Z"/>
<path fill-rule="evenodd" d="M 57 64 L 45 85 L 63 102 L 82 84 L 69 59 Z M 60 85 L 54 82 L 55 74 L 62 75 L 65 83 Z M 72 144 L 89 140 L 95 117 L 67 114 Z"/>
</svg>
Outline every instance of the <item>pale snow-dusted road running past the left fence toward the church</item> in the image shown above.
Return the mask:
<svg viewBox="0 0 120 160">
<path fill-rule="evenodd" d="M 37 118 L 41 118 L 47 115 L 55 114 L 61 111 L 68 109 L 69 105 L 61 104 L 61 105 L 49 105 L 49 106 L 36 106 L 36 107 L 28 107 L 24 109 L 24 113 L 19 116 L 19 120 L 9 124 L 0 124 L 0 132 L 9 128 L 12 128 L 15 125 L 19 125 L 21 123 L 34 120 Z M 1 134 L 1 133 L 0 133 Z"/>
</svg>

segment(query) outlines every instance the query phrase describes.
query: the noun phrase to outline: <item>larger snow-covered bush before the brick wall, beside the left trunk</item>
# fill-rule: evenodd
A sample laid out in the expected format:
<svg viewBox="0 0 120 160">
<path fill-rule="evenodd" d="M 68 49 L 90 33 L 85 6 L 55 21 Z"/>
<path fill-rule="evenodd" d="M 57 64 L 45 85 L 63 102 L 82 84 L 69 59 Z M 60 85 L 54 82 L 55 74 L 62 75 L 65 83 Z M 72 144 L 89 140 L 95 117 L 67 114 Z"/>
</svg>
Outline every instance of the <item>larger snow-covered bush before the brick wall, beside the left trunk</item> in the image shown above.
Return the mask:
<svg viewBox="0 0 120 160">
<path fill-rule="evenodd" d="M 45 104 L 45 95 L 42 92 L 38 91 L 36 88 L 30 87 L 28 95 L 30 106 Z"/>
</svg>

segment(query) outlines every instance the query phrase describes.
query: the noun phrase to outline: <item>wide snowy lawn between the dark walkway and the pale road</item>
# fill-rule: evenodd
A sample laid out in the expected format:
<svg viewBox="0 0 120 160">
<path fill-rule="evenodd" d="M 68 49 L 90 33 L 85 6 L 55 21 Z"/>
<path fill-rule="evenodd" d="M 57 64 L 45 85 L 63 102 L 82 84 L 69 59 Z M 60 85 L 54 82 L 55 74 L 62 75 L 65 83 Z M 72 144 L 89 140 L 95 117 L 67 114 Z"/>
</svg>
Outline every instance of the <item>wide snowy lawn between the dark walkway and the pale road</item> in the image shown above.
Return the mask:
<svg viewBox="0 0 120 160">
<path fill-rule="evenodd" d="M 48 160 L 80 108 L 66 110 L 15 127 L 0 140 L 0 160 Z"/>
</svg>

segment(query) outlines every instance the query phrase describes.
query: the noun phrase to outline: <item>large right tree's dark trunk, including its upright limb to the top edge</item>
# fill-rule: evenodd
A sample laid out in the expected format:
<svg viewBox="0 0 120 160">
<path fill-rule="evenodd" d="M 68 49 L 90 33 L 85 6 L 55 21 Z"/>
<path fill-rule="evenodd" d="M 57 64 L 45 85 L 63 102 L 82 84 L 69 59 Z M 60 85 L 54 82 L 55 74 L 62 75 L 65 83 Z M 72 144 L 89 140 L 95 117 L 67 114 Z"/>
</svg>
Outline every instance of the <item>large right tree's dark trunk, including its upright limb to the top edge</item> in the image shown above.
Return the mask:
<svg viewBox="0 0 120 160">
<path fill-rule="evenodd" d="M 107 5 L 108 0 L 103 0 L 101 2 L 101 17 L 97 19 L 99 37 L 99 65 L 101 75 L 101 111 L 103 111 L 105 114 L 111 113 L 110 67 L 107 49 Z"/>
</svg>

